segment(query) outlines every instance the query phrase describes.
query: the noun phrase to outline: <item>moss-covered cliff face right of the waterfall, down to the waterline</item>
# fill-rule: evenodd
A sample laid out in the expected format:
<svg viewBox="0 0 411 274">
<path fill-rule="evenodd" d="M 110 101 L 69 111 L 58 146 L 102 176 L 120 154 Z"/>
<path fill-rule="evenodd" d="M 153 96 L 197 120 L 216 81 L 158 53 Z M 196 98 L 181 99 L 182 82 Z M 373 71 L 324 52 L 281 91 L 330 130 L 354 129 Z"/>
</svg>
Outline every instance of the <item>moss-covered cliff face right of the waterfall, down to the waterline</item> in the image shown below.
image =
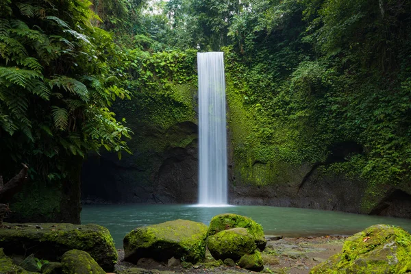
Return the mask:
<svg viewBox="0 0 411 274">
<path fill-rule="evenodd" d="M 411 218 L 406 178 L 389 162 L 367 173 L 379 159 L 356 132 L 333 132 L 347 125 L 318 108 L 323 99 L 303 94 L 295 75 L 273 83 L 264 59 L 246 65 L 225 51 L 231 203 Z"/>
</svg>

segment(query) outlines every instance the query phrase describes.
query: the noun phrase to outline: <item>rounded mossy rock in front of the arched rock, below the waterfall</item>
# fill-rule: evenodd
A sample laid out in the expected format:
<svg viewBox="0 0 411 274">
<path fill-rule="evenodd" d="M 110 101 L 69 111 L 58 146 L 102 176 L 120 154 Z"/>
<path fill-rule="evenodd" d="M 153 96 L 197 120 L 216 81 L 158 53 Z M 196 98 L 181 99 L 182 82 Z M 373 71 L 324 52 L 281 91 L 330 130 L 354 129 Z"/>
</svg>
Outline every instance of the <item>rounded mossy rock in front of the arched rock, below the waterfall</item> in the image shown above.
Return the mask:
<svg viewBox="0 0 411 274">
<path fill-rule="evenodd" d="M 207 239 L 207 247 L 216 260 L 239 260 L 257 248 L 255 238 L 247 229 L 236 227 L 223 230 Z"/>
</svg>

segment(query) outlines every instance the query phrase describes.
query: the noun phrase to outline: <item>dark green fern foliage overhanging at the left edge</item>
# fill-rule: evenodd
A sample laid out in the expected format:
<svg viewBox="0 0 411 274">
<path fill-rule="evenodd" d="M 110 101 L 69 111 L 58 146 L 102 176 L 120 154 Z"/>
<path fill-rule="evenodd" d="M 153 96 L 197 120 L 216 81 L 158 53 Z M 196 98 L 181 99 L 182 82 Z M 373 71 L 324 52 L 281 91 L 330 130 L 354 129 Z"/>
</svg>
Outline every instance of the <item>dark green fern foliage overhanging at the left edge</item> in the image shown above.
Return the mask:
<svg viewBox="0 0 411 274">
<path fill-rule="evenodd" d="M 116 46 L 90 25 L 98 18 L 89 6 L 1 1 L 0 157 L 29 163 L 32 177 L 64 177 L 68 159 L 90 150 L 127 151 L 129 129 L 109 107 L 129 94 L 118 86 Z"/>
</svg>

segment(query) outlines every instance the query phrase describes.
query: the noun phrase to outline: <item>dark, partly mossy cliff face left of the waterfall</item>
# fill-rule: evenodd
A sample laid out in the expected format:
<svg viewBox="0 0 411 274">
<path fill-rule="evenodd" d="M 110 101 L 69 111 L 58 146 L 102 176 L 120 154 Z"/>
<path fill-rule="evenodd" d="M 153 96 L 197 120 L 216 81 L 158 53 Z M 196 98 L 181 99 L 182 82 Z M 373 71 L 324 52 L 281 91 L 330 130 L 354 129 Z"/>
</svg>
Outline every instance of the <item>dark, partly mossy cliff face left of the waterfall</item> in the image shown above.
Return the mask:
<svg viewBox="0 0 411 274">
<path fill-rule="evenodd" d="M 197 201 L 197 89 L 171 84 L 116 105 L 134 132 L 132 155 L 104 154 L 84 164 L 83 197 L 111 202 Z"/>
</svg>

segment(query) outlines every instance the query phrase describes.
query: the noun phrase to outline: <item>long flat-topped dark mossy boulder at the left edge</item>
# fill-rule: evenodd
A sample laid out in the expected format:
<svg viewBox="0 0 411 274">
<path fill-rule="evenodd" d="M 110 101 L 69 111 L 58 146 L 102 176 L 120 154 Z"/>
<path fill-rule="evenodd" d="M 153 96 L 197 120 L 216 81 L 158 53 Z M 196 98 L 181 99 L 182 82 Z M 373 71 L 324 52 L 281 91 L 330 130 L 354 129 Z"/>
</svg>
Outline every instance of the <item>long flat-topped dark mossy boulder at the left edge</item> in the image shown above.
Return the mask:
<svg viewBox="0 0 411 274">
<path fill-rule="evenodd" d="M 100 225 L 72 225 L 68 223 L 5 224 L 0 228 L 0 246 L 5 254 L 25 254 L 27 250 L 37 258 L 57 261 L 71 249 L 90 253 L 105 270 L 112 271 L 117 251 L 110 232 Z"/>
</svg>

